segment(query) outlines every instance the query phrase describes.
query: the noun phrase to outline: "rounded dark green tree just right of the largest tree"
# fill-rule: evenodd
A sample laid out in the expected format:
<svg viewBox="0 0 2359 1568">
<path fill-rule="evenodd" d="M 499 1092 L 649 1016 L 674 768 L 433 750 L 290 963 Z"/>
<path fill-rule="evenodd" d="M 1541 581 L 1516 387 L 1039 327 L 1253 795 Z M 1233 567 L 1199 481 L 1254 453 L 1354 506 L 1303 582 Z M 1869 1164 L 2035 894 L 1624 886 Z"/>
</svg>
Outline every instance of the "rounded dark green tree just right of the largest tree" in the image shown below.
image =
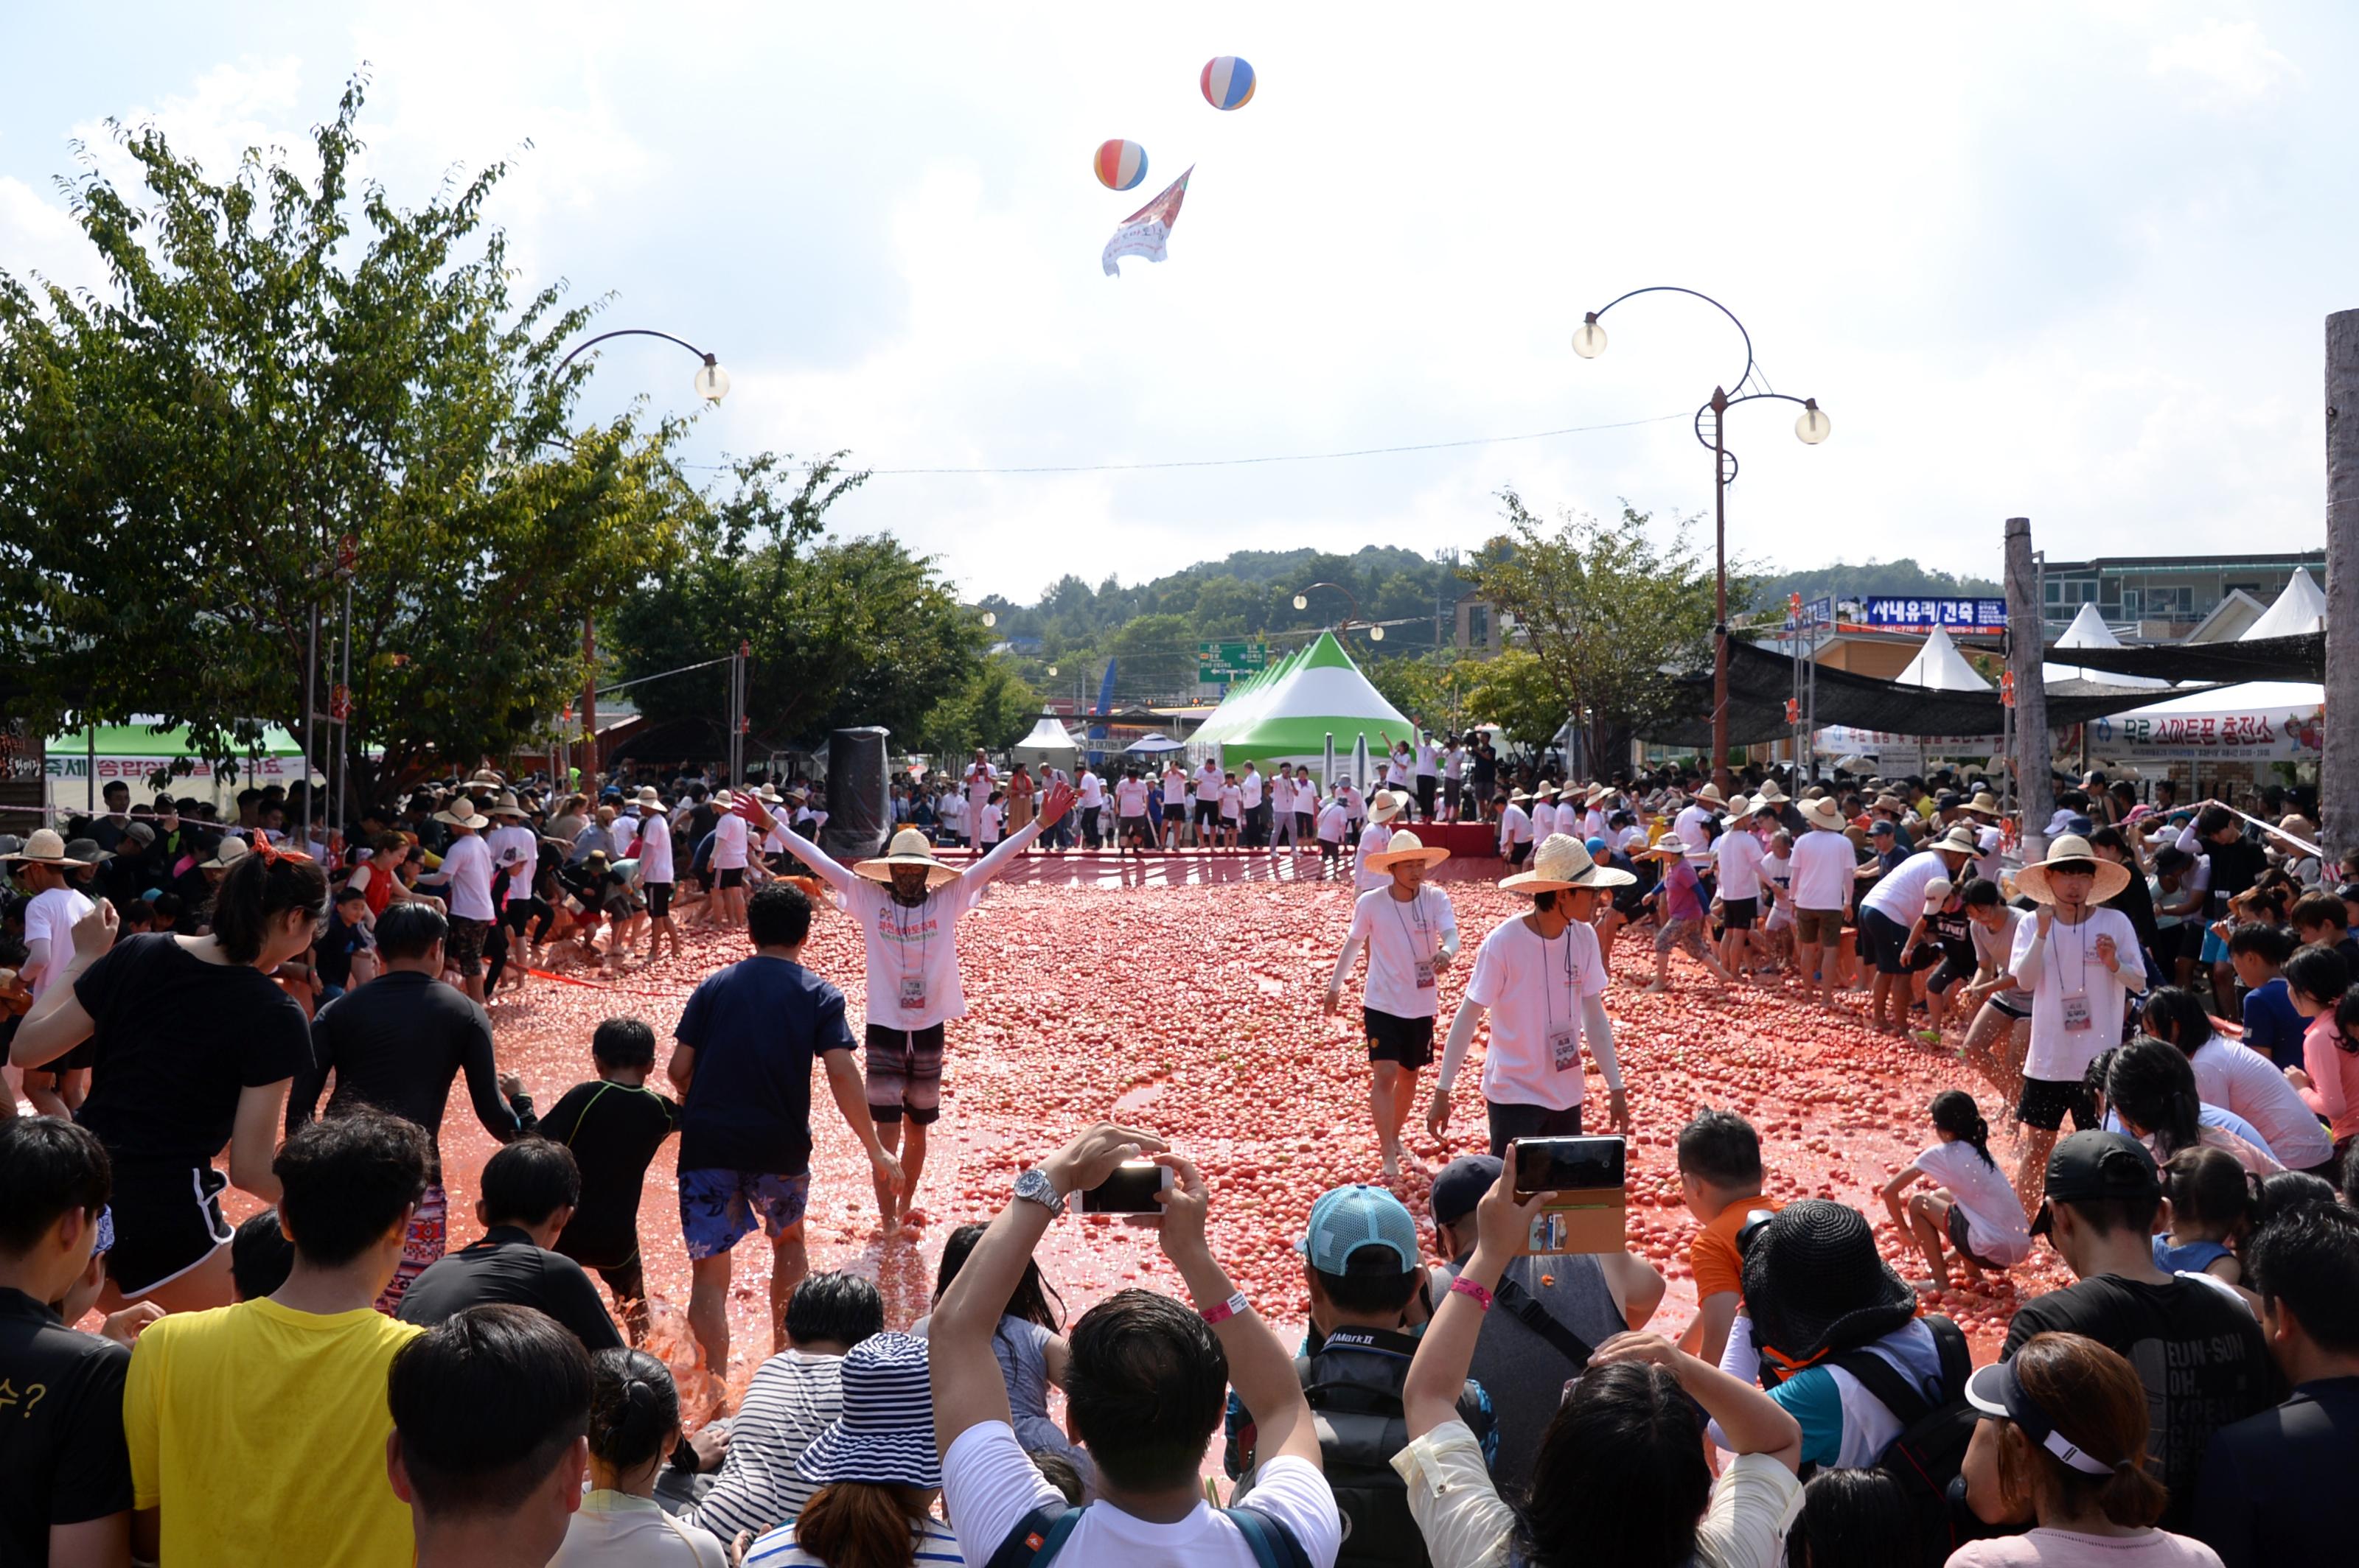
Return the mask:
<svg viewBox="0 0 2359 1568">
<path fill-rule="evenodd" d="M 849 724 L 882 724 L 903 745 L 918 736 L 977 670 L 988 634 L 932 559 L 885 535 L 821 538 L 828 507 L 868 479 L 842 457 L 793 483 L 783 457 L 736 465 L 731 495 L 696 521 L 682 566 L 642 585 L 616 618 L 627 679 L 745 644 L 745 714 L 757 729 L 795 743 Z M 651 719 L 710 722 L 717 736 L 727 670 L 689 670 L 635 693 Z"/>
</svg>

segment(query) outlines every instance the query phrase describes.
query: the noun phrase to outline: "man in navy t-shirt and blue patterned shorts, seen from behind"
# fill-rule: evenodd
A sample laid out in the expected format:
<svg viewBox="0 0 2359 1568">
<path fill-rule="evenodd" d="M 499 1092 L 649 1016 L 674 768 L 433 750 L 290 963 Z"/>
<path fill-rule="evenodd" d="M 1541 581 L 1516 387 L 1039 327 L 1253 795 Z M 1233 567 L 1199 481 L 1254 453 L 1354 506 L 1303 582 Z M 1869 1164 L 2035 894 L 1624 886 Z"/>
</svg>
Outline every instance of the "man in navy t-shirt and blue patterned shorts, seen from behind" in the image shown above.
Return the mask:
<svg viewBox="0 0 2359 1568">
<path fill-rule="evenodd" d="M 811 1193 L 811 1059 L 892 1191 L 901 1162 L 868 1120 L 868 1087 L 852 1056 L 845 993 L 802 967 L 811 901 L 793 882 L 764 882 L 745 901 L 753 957 L 705 979 L 689 997 L 665 1068 L 679 1089 L 679 1228 L 689 1245 L 689 1330 L 705 1368 L 729 1372 L 729 1250 L 760 1219 L 771 1245 L 771 1346 L 786 1349 L 786 1302 L 807 1269 L 802 1210 Z"/>
</svg>

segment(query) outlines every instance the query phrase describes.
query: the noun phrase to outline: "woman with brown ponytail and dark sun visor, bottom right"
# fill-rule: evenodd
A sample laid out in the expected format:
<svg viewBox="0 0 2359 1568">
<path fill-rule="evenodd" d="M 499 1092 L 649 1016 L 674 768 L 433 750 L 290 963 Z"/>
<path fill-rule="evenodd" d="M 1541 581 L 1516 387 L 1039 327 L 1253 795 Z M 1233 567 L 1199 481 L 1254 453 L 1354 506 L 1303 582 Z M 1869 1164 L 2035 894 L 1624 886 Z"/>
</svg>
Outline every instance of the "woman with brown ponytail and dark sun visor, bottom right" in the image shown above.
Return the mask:
<svg viewBox="0 0 2359 1568">
<path fill-rule="evenodd" d="M 2147 1389 L 2083 1335 L 2033 1335 L 1965 1384 L 1984 1417 L 1965 1450 L 1965 1502 L 1991 1526 L 1949 1568 L 2220 1568 L 2203 1542 L 2156 1530 L 2168 1493 L 2149 1474 Z"/>
</svg>

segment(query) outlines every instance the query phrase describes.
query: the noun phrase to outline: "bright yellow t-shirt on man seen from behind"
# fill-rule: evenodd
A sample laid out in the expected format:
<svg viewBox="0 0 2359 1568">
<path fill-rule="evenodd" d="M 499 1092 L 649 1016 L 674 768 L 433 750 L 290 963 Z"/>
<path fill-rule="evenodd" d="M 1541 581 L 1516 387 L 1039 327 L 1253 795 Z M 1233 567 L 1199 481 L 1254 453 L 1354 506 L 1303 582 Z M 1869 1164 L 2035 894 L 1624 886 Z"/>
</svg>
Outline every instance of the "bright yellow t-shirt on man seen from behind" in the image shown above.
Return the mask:
<svg viewBox="0 0 2359 1568">
<path fill-rule="evenodd" d="M 158 1318 L 132 1349 L 132 1507 L 160 1507 L 172 1568 L 410 1568 L 385 1478 L 385 1370 L 420 1327 L 373 1309 L 241 1302 Z"/>
</svg>

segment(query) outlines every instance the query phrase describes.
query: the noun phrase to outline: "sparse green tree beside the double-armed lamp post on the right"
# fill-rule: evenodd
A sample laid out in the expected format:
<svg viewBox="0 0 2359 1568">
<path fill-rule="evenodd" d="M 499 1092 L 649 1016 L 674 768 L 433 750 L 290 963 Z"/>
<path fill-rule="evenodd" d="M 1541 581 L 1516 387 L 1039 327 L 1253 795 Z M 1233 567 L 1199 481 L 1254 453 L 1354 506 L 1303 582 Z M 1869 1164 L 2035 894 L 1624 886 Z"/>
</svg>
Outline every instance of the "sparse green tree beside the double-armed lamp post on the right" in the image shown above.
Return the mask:
<svg viewBox="0 0 2359 1568">
<path fill-rule="evenodd" d="M 1512 618 L 1514 641 L 1555 691 L 1555 712 L 1583 714 L 1590 755 L 1623 755 L 1649 724 L 1684 717 L 1691 698 L 1680 677 L 1713 658 L 1713 564 L 1689 542 L 1689 526 L 1663 540 L 1649 514 L 1623 507 L 1611 521 L 1564 512 L 1550 528 L 1514 490 L 1500 502 L 1507 533 L 1465 575 Z M 1729 615 L 1748 599 L 1750 582 L 1732 575 Z"/>
</svg>

